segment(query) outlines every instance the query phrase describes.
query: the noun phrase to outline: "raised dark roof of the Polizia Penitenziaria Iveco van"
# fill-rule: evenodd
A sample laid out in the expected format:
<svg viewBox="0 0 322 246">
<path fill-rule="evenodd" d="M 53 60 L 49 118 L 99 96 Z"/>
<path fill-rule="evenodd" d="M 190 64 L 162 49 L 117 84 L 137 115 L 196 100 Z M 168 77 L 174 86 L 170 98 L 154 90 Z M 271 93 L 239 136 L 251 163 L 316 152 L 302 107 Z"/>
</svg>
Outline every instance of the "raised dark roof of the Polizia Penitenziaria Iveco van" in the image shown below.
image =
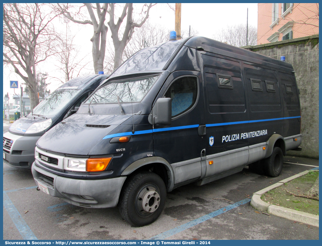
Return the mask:
<svg viewBox="0 0 322 246">
<path fill-rule="evenodd" d="M 250 64 L 256 63 L 287 70 L 289 72 L 293 71 L 292 65 L 287 62 L 282 62 L 277 59 L 210 38 L 194 36 L 181 40 L 168 41 L 166 43 L 139 50 L 128 60 L 123 62 L 118 69 L 111 74 L 110 78 L 128 73 L 166 70 L 168 65 L 175 60 L 176 54 L 183 46 L 232 57 Z"/>
</svg>

